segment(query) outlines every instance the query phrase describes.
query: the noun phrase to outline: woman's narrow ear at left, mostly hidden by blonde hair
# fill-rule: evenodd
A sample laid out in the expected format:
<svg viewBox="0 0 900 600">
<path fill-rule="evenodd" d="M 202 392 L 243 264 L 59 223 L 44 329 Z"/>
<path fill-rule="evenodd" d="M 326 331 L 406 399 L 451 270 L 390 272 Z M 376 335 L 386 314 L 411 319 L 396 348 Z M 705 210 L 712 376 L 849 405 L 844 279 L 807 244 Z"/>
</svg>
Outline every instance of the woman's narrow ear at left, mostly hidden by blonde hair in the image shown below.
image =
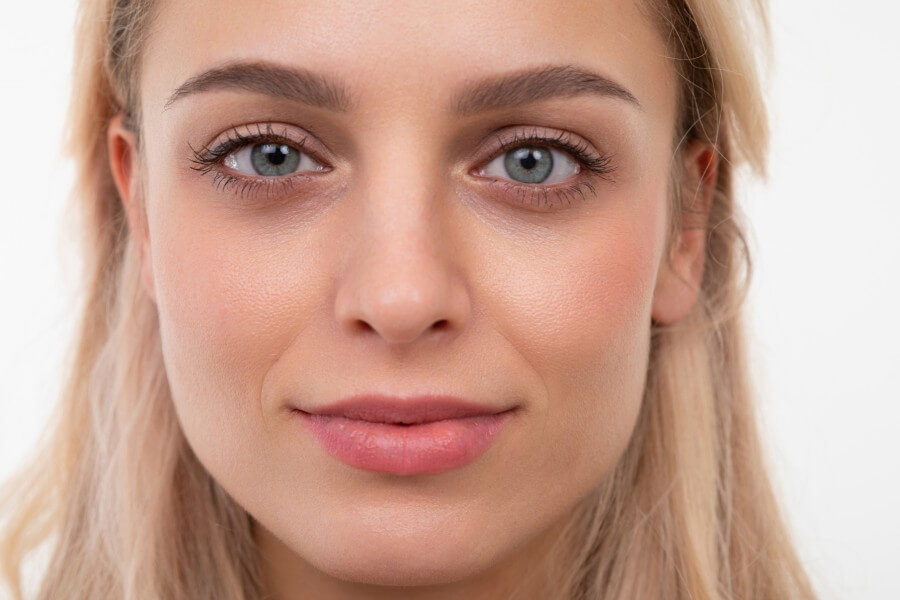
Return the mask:
<svg viewBox="0 0 900 600">
<path fill-rule="evenodd" d="M 150 260 L 150 231 L 147 226 L 144 199 L 141 197 L 137 136 L 126 127 L 124 114 L 119 113 L 110 121 L 106 132 L 106 146 L 113 182 L 119 192 L 128 221 L 129 243 L 137 244 L 141 261 L 141 282 L 144 291 L 153 302 L 156 302 L 153 267 Z"/>
</svg>

